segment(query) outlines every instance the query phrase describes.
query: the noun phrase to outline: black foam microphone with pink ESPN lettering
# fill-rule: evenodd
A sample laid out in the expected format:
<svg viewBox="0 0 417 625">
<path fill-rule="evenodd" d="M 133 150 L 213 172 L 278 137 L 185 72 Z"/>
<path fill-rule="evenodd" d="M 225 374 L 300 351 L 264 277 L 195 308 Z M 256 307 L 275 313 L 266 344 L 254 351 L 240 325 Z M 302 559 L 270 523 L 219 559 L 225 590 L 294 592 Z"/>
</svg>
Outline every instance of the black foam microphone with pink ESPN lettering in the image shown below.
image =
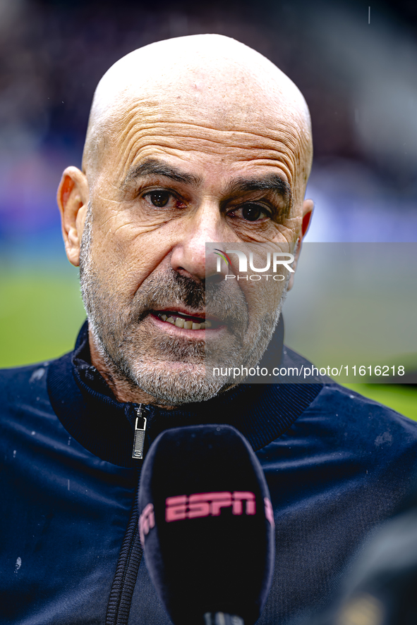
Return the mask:
<svg viewBox="0 0 417 625">
<path fill-rule="evenodd" d="M 224 425 L 164 431 L 139 490 L 152 582 L 174 625 L 253 625 L 272 583 L 274 516 L 260 463 Z"/>
</svg>

